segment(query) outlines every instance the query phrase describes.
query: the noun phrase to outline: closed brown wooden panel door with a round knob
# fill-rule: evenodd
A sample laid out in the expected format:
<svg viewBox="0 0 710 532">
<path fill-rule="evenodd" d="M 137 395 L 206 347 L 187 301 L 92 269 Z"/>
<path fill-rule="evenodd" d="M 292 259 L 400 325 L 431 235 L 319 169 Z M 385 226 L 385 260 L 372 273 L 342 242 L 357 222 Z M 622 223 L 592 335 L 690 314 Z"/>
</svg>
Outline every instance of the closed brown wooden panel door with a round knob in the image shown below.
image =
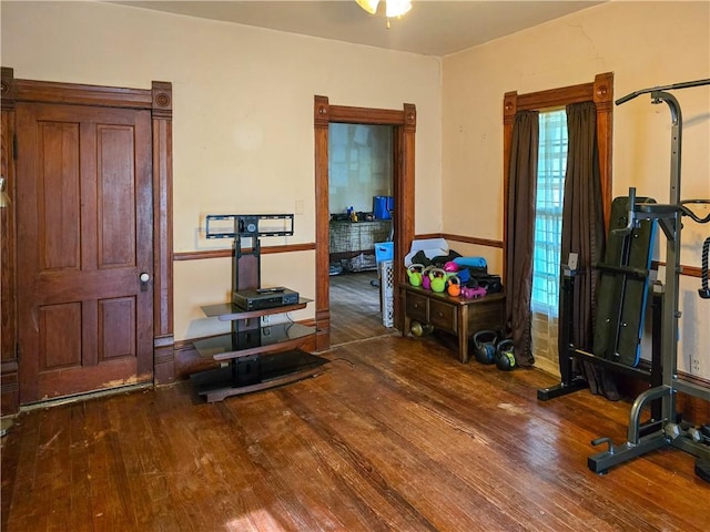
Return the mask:
<svg viewBox="0 0 710 532">
<path fill-rule="evenodd" d="M 152 380 L 151 112 L 18 103 L 16 123 L 20 403 Z"/>
</svg>

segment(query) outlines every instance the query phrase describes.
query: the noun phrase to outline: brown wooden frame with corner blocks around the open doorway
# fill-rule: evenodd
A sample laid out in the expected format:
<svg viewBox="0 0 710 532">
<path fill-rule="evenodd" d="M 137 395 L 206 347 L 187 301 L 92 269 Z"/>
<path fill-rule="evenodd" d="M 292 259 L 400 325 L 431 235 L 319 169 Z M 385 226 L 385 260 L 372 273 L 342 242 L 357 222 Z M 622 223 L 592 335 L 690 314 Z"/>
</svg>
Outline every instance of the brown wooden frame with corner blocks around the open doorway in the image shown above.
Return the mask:
<svg viewBox="0 0 710 532">
<path fill-rule="evenodd" d="M 331 122 L 393 126 L 394 147 L 394 263 L 404 264 L 405 250 L 414 239 L 414 156 L 416 140 L 416 106 L 405 103 L 403 110 L 331 105 L 327 96 L 314 98 L 315 130 L 315 320 L 316 350 L 331 347 L 331 279 L 328 206 L 328 125 Z M 404 280 L 404 268 L 394 268 L 394 283 Z M 402 328 L 399 291 L 395 290 L 394 325 Z"/>
</svg>

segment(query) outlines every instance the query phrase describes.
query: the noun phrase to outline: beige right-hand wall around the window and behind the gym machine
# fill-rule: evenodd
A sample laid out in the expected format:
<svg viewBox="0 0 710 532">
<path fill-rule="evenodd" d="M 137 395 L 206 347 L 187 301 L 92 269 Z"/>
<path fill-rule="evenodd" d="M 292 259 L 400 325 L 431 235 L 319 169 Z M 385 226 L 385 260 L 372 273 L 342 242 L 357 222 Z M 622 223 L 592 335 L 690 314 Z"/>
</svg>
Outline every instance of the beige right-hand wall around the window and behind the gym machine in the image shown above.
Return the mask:
<svg viewBox="0 0 710 532">
<path fill-rule="evenodd" d="M 504 93 L 587 83 L 602 72 L 615 73 L 615 98 L 710 78 L 710 2 L 615 1 L 444 58 L 444 232 L 503 238 Z M 674 95 L 684 117 L 681 196 L 710 198 L 710 86 Z M 668 202 L 668 106 L 651 105 L 647 94 L 613 112 L 613 195 L 636 186 Z M 709 235 L 710 224 L 686 222 L 682 264 L 700 266 Z M 662 259 L 659 242 L 655 256 Z M 681 283 L 679 366 L 708 378 L 710 301 L 698 297 L 699 285 L 690 277 Z"/>
</svg>

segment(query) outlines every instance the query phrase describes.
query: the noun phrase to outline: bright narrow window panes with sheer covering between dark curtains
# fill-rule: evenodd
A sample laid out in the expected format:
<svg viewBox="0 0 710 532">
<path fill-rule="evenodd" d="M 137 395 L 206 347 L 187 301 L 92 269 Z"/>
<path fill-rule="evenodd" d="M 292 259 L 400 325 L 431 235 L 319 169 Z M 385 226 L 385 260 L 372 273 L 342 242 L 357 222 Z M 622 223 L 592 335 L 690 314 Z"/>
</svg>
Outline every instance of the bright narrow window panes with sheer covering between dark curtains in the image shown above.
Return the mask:
<svg viewBox="0 0 710 532">
<path fill-rule="evenodd" d="M 539 115 L 535 244 L 532 253 L 532 311 L 558 315 L 562 202 L 567 167 L 565 110 Z"/>
</svg>

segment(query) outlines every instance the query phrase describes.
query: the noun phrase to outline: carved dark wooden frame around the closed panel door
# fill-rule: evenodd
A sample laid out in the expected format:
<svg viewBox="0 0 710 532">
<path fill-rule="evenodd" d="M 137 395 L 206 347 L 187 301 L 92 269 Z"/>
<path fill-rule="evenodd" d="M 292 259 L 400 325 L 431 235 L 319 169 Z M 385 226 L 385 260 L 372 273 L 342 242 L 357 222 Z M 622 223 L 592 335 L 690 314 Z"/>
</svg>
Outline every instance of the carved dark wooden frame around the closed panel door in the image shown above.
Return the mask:
<svg viewBox="0 0 710 532">
<path fill-rule="evenodd" d="M 2 98 L 1 171 L 8 194 L 16 196 L 16 102 L 112 106 L 151 111 L 153 160 L 153 379 L 171 380 L 173 371 L 172 270 L 172 83 L 153 81 L 151 89 L 125 89 L 14 79 L 0 72 Z M 17 221 L 12 203 L 0 209 L 0 415 L 20 407 L 17 309 Z"/>
</svg>

